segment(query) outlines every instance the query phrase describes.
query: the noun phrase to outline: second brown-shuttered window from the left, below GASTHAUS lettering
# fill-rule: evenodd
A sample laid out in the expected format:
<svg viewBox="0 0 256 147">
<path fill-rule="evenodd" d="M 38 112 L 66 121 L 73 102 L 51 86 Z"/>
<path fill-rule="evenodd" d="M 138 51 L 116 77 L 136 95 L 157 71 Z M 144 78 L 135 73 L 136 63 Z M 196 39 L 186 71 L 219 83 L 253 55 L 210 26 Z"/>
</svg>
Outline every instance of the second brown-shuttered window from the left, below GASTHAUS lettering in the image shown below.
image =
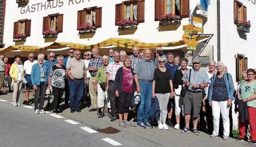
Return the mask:
<svg viewBox="0 0 256 147">
<path fill-rule="evenodd" d="M 52 14 L 43 18 L 43 32 L 63 32 L 63 14 Z"/>
</svg>

